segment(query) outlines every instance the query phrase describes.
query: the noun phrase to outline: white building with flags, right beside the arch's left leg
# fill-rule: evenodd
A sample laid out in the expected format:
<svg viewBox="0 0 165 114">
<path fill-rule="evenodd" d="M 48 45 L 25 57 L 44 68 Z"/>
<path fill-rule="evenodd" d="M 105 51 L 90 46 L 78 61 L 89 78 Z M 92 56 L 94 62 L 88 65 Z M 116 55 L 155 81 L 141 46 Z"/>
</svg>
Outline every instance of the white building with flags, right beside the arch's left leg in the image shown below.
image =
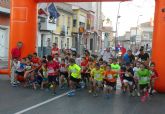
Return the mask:
<svg viewBox="0 0 165 114">
<path fill-rule="evenodd" d="M 48 3 L 38 4 L 37 51 L 39 56 L 51 54 L 51 47 L 54 41 L 56 23 L 49 18 L 49 5 Z"/>
</svg>

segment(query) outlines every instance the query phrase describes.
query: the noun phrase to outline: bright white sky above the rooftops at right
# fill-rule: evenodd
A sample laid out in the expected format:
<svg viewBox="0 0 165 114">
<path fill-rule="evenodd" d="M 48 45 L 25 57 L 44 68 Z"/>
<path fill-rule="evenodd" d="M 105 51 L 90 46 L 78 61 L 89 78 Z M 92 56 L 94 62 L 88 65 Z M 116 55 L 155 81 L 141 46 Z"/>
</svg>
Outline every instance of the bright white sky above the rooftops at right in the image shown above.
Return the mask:
<svg viewBox="0 0 165 114">
<path fill-rule="evenodd" d="M 132 0 L 129 2 L 122 2 L 120 4 L 120 18 L 118 23 L 118 34 L 124 35 L 130 27 L 137 26 L 139 23 L 150 21 L 154 17 L 155 0 Z M 116 18 L 119 2 L 103 2 L 102 12 L 106 18 L 110 18 L 112 26 L 116 29 Z"/>
</svg>

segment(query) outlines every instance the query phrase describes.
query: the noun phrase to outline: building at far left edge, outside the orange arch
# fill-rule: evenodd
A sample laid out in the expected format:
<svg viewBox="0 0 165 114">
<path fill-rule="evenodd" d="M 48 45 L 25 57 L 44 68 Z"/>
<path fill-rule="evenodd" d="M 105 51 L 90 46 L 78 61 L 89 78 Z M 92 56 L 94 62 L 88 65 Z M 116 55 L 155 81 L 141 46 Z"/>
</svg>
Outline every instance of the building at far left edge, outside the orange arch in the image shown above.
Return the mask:
<svg viewBox="0 0 165 114">
<path fill-rule="evenodd" d="M 0 0 L 0 59 L 8 60 L 10 0 Z"/>
</svg>

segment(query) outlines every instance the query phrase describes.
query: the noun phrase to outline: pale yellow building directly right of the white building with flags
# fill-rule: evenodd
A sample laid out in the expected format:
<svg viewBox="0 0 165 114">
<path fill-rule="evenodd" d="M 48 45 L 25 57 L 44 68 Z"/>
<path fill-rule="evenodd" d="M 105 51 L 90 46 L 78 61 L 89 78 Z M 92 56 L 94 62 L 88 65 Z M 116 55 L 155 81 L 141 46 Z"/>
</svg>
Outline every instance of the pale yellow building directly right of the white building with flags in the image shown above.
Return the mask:
<svg viewBox="0 0 165 114">
<path fill-rule="evenodd" d="M 57 43 L 60 49 L 72 47 L 73 11 L 72 5 L 68 3 L 56 3 L 60 17 L 56 21 L 56 30 L 53 35 L 53 42 Z"/>
</svg>

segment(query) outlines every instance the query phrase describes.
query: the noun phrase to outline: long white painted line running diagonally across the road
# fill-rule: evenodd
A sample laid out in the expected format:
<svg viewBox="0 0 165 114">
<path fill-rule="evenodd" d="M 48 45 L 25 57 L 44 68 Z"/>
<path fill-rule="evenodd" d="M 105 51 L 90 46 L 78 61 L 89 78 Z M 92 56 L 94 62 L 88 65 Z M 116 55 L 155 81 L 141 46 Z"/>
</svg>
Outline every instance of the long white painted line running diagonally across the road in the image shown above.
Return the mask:
<svg viewBox="0 0 165 114">
<path fill-rule="evenodd" d="M 19 112 L 14 113 L 14 114 L 23 114 L 23 113 L 25 113 L 25 112 L 27 112 L 27 111 L 30 111 L 30 110 L 35 109 L 35 108 L 38 108 L 38 107 L 40 107 L 40 106 L 42 106 L 42 105 L 45 105 L 45 104 L 47 104 L 47 103 L 49 103 L 49 102 L 52 102 L 52 101 L 56 100 L 56 99 L 59 99 L 59 98 L 61 98 L 61 97 L 64 97 L 65 95 L 67 95 L 67 93 L 68 93 L 68 92 L 63 93 L 63 94 L 61 94 L 61 95 L 59 95 L 59 96 L 53 97 L 53 98 L 51 98 L 51 99 L 48 99 L 48 100 L 46 100 L 46 101 L 44 101 L 44 102 L 38 103 L 38 104 L 36 104 L 36 105 L 33 105 L 33 106 L 29 107 L 29 108 L 26 108 L 26 109 L 24 109 L 24 110 L 21 110 L 21 111 L 19 111 Z"/>
</svg>

